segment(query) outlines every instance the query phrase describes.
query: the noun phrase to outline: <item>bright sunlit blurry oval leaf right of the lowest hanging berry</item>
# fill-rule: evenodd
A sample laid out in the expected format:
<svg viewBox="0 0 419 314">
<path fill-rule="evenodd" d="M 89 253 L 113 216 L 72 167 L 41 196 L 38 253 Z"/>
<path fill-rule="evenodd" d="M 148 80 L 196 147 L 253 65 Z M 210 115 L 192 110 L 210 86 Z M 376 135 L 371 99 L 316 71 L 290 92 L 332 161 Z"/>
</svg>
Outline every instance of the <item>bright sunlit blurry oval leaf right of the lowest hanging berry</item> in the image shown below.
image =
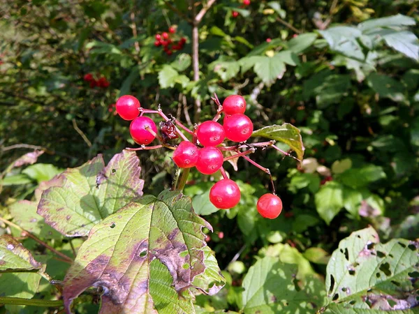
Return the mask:
<svg viewBox="0 0 419 314">
<path fill-rule="evenodd" d="M 335 181 L 326 182 L 316 193 L 314 199 L 318 214 L 328 225 L 344 207 L 342 186 Z"/>
</svg>

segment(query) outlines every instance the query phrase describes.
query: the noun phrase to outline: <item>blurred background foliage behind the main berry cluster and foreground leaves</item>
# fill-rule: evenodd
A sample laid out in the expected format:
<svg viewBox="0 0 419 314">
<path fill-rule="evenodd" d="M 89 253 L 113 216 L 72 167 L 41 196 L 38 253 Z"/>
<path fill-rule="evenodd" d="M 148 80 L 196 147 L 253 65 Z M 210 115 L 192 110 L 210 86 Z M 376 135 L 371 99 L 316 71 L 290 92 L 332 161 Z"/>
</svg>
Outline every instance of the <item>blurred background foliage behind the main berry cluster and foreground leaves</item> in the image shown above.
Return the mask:
<svg viewBox="0 0 419 314">
<path fill-rule="evenodd" d="M 112 107 L 123 94 L 189 126 L 214 115 L 212 94 L 221 101 L 241 94 L 255 129 L 294 124 L 305 152 L 302 165 L 278 151 L 252 156 L 270 168 L 284 202 L 272 221 L 256 212 L 269 188 L 256 167 L 243 160 L 238 172 L 226 167 L 242 188 L 242 201 L 228 211 L 216 212 L 207 197 L 217 177 L 191 174 L 185 193 L 198 214 L 216 212 L 205 217 L 215 229 L 208 241 L 231 285 L 240 285 L 253 255 L 272 250 L 324 274 L 339 240 L 367 225 L 383 240 L 418 238 L 417 1 L 216 1 L 199 25 L 198 80 L 189 20 L 203 3 L 191 3 L 0 3 L 0 214 L 62 169 L 133 147 L 128 122 Z M 170 26 L 186 45 L 168 55 L 154 36 Z M 88 73 L 108 84 L 91 87 Z M 45 154 L 10 167 L 30 149 Z M 170 154 L 139 156 L 145 191 L 169 187 Z M 228 294 L 202 305 L 235 308 L 236 301 Z"/>
</svg>

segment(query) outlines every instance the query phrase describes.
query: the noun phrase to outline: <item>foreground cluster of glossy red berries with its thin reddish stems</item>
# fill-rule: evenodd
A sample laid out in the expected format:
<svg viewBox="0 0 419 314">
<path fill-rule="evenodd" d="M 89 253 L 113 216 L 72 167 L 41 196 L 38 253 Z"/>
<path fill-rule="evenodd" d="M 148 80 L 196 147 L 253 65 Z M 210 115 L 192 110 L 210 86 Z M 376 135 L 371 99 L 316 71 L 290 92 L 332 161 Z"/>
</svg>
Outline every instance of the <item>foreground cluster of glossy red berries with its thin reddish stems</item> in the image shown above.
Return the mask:
<svg viewBox="0 0 419 314">
<path fill-rule="evenodd" d="M 226 172 L 223 170 L 223 162 L 232 158 L 243 157 L 253 165 L 257 165 L 246 155 L 253 153 L 256 150 L 255 147 L 263 147 L 263 143 L 259 143 L 259 145 L 244 143 L 251 137 L 253 123 L 244 114 L 246 100 L 242 96 L 228 96 L 223 101 L 223 105 L 219 103 L 218 98 L 214 98 L 214 100 L 219 105 L 216 117 L 199 124 L 193 131 L 183 126 L 176 119 L 169 119 L 160 109 L 147 110 L 142 108 L 138 99 L 133 96 L 126 95 L 119 98 L 116 108 L 122 119 L 131 121 L 129 127 L 131 137 L 137 144 L 142 145 L 140 149 L 132 150 L 168 147 L 174 149 L 172 159 L 180 168 L 196 167 L 202 174 L 214 174 L 220 170 L 223 179 L 212 186 L 210 201 L 218 209 L 230 209 L 240 202 L 240 188 L 235 181 L 228 179 Z M 143 114 L 159 114 L 165 120 L 159 124 L 161 135 L 158 134 L 154 121 Z M 217 122 L 221 114 L 224 114 L 222 125 Z M 189 133 L 193 140 L 189 141 L 177 126 Z M 145 145 L 152 143 L 156 137 L 161 141 L 160 145 L 145 147 Z M 183 141 L 177 146 L 168 143 L 168 140 L 178 137 L 181 137 Z M 220 146 L 226 138 L 239 144 L 230 147 Z M 266 146 L 268 144 L 265 144 Z M 239 151 L 242 148 L 250 149 Z M 236 151 L 236 154 L 225 158 L 222 151 Z M 259 167 L 270 174 L 266 168 Z M 281 199 L 277 195 L 267 193 L 258 200 L 257 209 L 265 218 L 277 218 L 282 210 Z"/>
</svg>

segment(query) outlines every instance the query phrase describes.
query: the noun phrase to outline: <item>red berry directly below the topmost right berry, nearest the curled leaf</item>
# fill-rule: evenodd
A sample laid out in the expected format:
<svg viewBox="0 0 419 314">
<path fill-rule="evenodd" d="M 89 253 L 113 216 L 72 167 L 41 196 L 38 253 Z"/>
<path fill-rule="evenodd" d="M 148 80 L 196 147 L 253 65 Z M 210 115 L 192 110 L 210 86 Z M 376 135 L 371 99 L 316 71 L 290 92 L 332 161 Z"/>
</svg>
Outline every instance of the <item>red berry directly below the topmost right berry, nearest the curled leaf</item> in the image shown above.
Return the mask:
<svg viewBox="0 0 419 314">
<path fill-rule="evenodd" d="M 253 132 L 253 124 L 249 117 L 244 114 L 224 117 L 223 127 L 226 131 L 226 137 L 233 142 L 244 142 L 249 139 Z"/>
</svg>

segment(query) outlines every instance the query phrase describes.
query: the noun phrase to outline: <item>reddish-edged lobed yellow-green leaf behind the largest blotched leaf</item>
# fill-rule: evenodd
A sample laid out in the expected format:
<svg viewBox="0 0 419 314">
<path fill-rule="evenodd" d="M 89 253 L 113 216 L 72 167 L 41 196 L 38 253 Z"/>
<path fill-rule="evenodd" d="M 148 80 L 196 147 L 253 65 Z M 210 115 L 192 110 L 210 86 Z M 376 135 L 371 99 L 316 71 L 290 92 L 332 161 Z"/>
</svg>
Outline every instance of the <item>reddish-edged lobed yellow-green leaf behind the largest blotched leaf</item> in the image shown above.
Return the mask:
<svg viewBox="0 0 419 314">
<path fill-rule="evenodd" d="M 139 163 L 134 151 L 122 151 L 106 167 L 98 155 L 64 171 L 52 179 L 61 185 L 43 192 L 38 214 L 68 237 L 86 236 L 96 223 L 142 195 Z"/>
</svg>

